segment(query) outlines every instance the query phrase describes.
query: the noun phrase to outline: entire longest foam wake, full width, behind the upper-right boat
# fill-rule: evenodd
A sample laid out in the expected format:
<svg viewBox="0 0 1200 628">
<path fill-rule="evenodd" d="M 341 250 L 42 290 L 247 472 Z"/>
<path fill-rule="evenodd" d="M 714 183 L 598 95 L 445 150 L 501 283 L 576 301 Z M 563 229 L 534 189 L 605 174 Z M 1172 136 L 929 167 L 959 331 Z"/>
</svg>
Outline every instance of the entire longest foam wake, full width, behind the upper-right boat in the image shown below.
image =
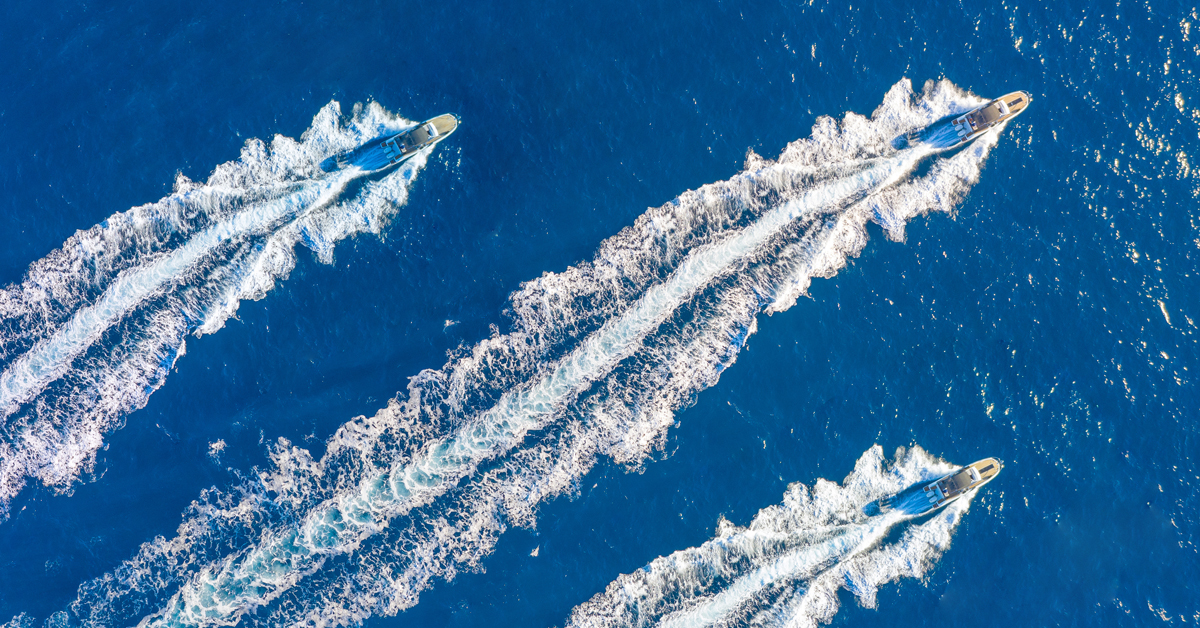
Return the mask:
<svg viewBox="0 0 1200 628">
<path fill-rule="evenodd" d="M 733 179 L 649 210 L 593 262 L 522 286 L 509 333 L 419 373 L 319 460 L 281 442 L 274 468 L 206 491 L 174 538 L 82 586 L 58 620 L 338 626 L 414 605 L 599 456 L 642 463 L 760 313 L 836 273 L 868 222 L 901 238 L 908 217 L 953 208 L 995 137 L 919 178 L 920 152 L 890 140 L 977 102 L 949 83 L 914 100 L 901 82 L 871 119 L 822 119 L 779 160 L 751 154 Z"/>
</svg>

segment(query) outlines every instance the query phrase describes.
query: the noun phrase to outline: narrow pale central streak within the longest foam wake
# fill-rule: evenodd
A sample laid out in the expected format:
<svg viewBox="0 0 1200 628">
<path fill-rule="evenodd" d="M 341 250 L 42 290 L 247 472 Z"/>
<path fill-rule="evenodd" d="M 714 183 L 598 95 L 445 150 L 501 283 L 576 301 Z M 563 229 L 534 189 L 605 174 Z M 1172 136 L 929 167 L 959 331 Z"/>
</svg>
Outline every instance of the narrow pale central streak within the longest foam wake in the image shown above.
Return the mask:
<svg viewBox="0 0 1200 628">
<path fill-rule="evenodd" d="M 288 531 L 223 566 L 203 573 L 197 585 L 172 600 L 162 620 L 149 626 L 191 626 L 233 621 L 252 605 L 269 602 L 292 586 L 318 558 L 341 554 L 373 534 L 388 519 L 414 503 L 434 498 L 475 466 L 516 447 L 529 430 L 554 414 L 581 385 L 611 370 L 634 346 L 659 327 L 698 288 L 752 253 L 788 222 L 816 210 L 845 204 L 869 190 L 889 185 L 928 151 L 883 160 L 852 178 L 836 180 L 785 203 L 732 237 L 691 255 L 665 282 L 652 287 L 624 315 L 605 323 L 582 346 L 528 389 L 505 394 L 500 402 L 452 438 L 434 443 L 422 456 L 377 476 L 352 494 L 338 496 Z M 199 612 L 197 612 L 199 610 Z"/>
</svg>

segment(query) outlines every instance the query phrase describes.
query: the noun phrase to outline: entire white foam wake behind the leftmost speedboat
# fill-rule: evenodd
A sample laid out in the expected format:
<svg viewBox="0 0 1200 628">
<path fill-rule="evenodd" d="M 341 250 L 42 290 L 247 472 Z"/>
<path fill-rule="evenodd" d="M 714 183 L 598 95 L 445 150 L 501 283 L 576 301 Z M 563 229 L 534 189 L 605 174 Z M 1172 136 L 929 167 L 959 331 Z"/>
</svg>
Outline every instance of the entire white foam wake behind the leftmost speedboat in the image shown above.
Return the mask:
<svg viewBox="0 0 1200 628">
<path fill-rule="evenodd" d="M 0 291 L 0 516 L 28 478 L 68 490 L 162 384 L 187 334 L 262 298 L 298 243 L 329 261 L 337 240 L 380 231 L 426 156 L 380 174 L 320 163 L 408 124 L 377 104 L 343 120 L 332 102 L 299 142 L 250 140 L 205 184 L 180 175 L 175 193 L 76 233 Z M 342 198 L 364 177 L 376 180 Z"/>
</svg>

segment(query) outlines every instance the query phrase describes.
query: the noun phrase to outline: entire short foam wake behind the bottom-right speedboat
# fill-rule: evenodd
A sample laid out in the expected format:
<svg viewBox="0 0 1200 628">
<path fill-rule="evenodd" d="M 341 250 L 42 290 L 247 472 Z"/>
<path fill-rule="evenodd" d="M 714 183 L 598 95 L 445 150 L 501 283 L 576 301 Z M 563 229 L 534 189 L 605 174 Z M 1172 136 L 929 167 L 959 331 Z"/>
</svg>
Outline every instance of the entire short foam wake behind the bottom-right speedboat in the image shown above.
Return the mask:
<svg viewBox="0 0 1200 628">
<path fill-rule="evenodd" d="M 900 575 L 919 576 L 936 562 L 970 496 L 912 526 L 888 546 L 880 546 L 888 533 L 928 512 L 929 504 L 875 516 L 863 508 L 908 483 L 930 482 L 953 468 L 920 448 L 898 450 L 895 462 L 887 466 L 875 445 L 841 485 L 794 484 L 781 506 L 760 512 L 746 528 L 722 520 L 715 539 L 620 576 L 577 606 L 568 626 L 816 626 L 836 612 L 839 587 L 874 604 L 882 584 Z"/>
</svg>

